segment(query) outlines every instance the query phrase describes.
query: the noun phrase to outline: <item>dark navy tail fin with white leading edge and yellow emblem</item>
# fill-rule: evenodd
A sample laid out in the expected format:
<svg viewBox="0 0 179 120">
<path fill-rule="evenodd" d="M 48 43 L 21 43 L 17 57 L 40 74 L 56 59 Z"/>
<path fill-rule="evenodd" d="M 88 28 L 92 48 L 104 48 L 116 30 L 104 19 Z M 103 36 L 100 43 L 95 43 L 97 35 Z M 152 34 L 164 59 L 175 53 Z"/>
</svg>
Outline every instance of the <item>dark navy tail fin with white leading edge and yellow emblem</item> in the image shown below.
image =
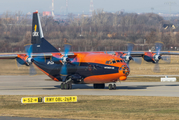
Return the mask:
<svg viewBox="0 0 179 120">
<path fill-rule="evenodd" d="M 54 46 L 44 39 L 38 12 L 33 13 L 31 44 L 33 47 L 33 53 L 59 52 Z"/>
</svg>

